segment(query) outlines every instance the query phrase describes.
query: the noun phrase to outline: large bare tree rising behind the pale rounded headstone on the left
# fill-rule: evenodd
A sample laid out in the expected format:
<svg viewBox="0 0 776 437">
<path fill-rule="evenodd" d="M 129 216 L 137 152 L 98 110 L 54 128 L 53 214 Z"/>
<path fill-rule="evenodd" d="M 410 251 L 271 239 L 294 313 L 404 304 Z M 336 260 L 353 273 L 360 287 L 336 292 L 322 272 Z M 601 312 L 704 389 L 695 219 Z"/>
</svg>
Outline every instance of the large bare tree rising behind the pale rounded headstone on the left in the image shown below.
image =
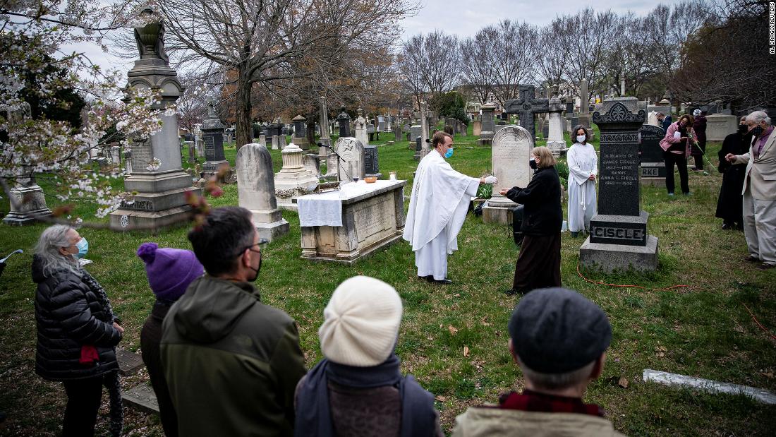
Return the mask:
<svg viewBox="0 0 776 437">
<path fill-rule="evenodd" d="M 258 84 L 270 93 L 343 61 L 345 48 L 396 37 L 412 0 L 157 0 L 168 50 L 205 73 L 230 72 L 237 144 L 251 140 Z M 323 49 L 327 50 L 323 50 Z M 275 83 L 280 85 L 274 87 Z"/>
</svg>

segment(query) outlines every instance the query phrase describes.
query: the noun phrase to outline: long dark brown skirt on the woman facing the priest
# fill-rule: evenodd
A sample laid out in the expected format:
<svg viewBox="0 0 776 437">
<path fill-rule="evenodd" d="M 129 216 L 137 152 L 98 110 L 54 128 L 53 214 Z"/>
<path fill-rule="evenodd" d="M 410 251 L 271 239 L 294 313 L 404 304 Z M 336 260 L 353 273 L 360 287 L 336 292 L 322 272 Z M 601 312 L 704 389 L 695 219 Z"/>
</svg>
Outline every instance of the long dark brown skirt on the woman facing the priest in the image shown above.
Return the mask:
<svg viewBox="0 0 776 437">
<path fill-rule="evenodd" d="M 560 284 L 560 232 L 553 235 L 525 235 L 514 265 L 512 289 L 521 293 L 561 286 Z"/>
</svg>

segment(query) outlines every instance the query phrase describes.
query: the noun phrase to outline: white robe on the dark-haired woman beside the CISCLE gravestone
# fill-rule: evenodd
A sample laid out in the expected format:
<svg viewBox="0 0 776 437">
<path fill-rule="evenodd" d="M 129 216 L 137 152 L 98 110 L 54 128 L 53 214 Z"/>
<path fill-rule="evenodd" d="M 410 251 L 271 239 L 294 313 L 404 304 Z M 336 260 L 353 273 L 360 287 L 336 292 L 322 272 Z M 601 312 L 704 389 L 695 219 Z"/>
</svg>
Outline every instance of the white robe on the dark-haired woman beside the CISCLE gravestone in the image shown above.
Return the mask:
<svg viewBox="0 0 776 437">
<path fill-rule="evenodd" d="M 575 143 L 566 158 L 569 165 L 569 231 L 590 231 L 590 220 L 596 213 L 595 181 L 598 156 L 590 143 Z"/>
</svg>

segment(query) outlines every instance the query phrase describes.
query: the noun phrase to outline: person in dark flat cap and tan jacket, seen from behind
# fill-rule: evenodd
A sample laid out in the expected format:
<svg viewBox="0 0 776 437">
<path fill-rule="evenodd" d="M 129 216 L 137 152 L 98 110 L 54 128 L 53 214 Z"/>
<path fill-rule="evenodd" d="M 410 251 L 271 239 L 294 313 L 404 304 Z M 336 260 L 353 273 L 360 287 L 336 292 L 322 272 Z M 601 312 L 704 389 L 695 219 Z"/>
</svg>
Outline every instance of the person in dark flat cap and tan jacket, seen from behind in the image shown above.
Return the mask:
<svg viewBox="0 0 776 437">
<path fill-rule="evenodd" d="M 572 290 L 534 290 L 514 308 L 508 331 L 525 390 L 505 394 L 498 405 L 469 408 L 456 418 L 453 437 L 622 435 L 598 405 L 582 401 L 601 376 L 611 342 L 598 305 Z"/>
</svg>

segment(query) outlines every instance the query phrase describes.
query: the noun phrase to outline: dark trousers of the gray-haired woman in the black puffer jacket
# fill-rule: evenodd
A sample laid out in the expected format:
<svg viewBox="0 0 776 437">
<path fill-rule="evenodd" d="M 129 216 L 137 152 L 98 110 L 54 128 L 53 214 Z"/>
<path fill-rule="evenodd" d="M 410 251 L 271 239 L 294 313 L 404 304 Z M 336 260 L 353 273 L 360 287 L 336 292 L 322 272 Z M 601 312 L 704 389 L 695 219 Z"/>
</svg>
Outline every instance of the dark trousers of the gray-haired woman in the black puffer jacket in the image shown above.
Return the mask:
<svg viewBox="0 0 776 437">
<path fill-rule="evenodd" d="M 64 409 L 62 435 L 95 435 L 95 421 L 102 397 L 102 376 L 63 383 L 64 392 L 68 394 L 68 406 Z"/>
</svg>

